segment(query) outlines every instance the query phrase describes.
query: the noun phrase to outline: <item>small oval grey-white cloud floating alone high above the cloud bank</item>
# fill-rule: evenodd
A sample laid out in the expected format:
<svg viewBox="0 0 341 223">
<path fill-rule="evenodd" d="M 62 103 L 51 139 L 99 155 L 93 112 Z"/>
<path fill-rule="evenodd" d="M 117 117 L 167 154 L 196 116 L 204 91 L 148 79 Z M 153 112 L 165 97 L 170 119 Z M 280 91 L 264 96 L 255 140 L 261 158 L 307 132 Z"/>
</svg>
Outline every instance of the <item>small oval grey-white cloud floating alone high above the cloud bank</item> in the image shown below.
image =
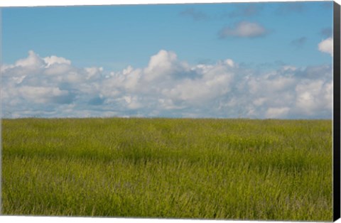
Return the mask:
<svg viewBox="0 0 341 223">
<path fill-rule="evenodd" d="M 261 26 L 259 23 L 252 23 L 248 21 L 241 21 L 234 24 L 234 26 L 227 26 L 220 30 L 219 37 L 240 37 L 240 38 L 256 38 L 265 36 L 269 31 Z"/>
</svg>

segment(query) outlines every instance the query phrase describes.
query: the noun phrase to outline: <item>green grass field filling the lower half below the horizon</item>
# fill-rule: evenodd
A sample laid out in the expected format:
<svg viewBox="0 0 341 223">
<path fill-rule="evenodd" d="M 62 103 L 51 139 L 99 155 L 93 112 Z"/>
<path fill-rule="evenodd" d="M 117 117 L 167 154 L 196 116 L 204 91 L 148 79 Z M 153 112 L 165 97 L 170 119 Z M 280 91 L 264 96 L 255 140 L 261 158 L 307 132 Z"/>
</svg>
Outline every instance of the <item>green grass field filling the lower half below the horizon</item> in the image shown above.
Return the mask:
<svg viewBox="0 0 341 223">
<path fill-rule="evenodd" d="M 4 119 L 2 214 L 332 220 L 332 121 Z"/>
</svg>

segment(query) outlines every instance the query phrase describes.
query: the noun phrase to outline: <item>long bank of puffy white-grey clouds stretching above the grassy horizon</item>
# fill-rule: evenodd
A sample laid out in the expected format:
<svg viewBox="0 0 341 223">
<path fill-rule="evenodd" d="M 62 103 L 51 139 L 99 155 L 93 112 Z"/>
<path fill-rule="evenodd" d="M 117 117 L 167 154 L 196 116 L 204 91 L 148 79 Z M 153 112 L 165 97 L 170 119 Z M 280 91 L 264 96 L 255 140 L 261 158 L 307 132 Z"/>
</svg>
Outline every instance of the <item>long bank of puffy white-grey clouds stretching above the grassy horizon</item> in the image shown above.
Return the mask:
<svg viewBox="0 0 341 223">
<path fill-rule="evenodd" d="M 33 51 L 1 67 L 2 115 L 8 118 L 166 116 L 330 119 L 332 67 L 250 69 L 232 59 L 190 65 L 160 50 L 146 67 L 107 71 L 75 67 Z"/>
</svg>

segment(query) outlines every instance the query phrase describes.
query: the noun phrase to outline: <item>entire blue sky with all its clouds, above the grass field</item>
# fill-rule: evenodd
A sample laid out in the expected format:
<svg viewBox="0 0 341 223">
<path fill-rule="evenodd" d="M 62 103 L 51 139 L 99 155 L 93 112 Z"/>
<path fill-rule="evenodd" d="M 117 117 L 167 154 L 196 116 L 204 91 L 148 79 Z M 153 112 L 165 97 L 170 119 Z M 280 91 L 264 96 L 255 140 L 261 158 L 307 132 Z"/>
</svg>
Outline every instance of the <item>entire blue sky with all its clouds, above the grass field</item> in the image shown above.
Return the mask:
<svg viewBox="0 0 341 223">
<path fill-rule="evenodd" d="M 332 116 L 332 2 L 1 12 L 5 117 Z"/>
</svg>

